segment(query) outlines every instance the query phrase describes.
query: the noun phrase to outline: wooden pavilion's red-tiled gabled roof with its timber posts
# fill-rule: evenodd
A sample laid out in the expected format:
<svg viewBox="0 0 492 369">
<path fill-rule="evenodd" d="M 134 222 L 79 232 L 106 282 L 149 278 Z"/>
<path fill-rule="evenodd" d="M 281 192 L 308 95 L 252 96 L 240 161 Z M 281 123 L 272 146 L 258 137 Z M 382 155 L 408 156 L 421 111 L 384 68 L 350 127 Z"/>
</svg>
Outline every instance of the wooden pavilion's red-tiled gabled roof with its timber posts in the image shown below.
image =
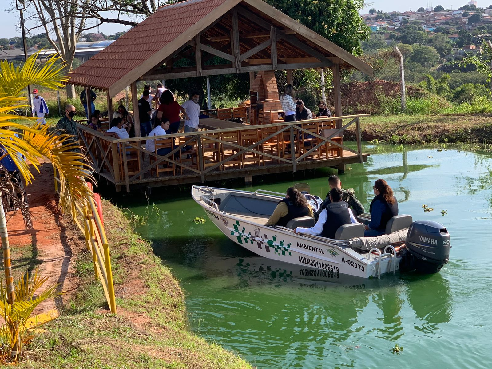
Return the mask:
<svg viewBox="0 0 492 369">
<path fill-rule="evenodd" d="M 215 57 L 220 57 L 224 63 L 206 64 Z M 183 58 L 189 60 L 188 64 L 192 66 L 174 66 L 176 61 Z M 161 7 L 76 68 L 70 74 L 70 83 L 86 89 L 92 87 L 104 91 L 108 101 L 108 115 L 111 117 L 111 98 L 127 86 L 131 86 L 133 106 L 137 106 L 138 81 L 249 72 L 252 84 L 255 72 L 287 70 L 287 82 L 292 83 L 292 71 L 301 68 L 331 68 L 334 79 L 334 113 L 337 117 L 341 116 L 340 69 L 355 68 L 372 75 L 369 64 L 262 0 L 188 0 Z M 138 114 L 134 115 L 134 121 L 135 132 L 139 136 Z M 342 119 L 338 118 L 334 123 L 334 128 L 338 128 L 338 135 L 350 124 L 342 127 L 341 122 Z M 87 146 L 91 139 L 88 142 L 83 141 Z M 138 147 L 141 142 L 142 140 L 138 141 Z M 106 150 L 104 145 L 99 146 L 100 150 Z M 255 148 L 259 150 L 259 146 Z M 345 149 L 343 147 L 342 150 Z M 106 151 L 106 159 L 108 153 Z M 358 161 L 364 159 L 360 150 L 356 156 Z M 169 156 L 157 155 L 157 158 L 161 162 L 173 161 Z M 122 160 L 125 161 L 124 158 Z M 224 166 L 222 164 L 219 167 Z M 295 170 L 295 163 L 293 169 Z M 137 174 L 141 177 L 142 171 Z M 128 189 L 131 181 L 127 176 L 125 184 Z M 112 177 L 117 184 L 114 173 Z M 203 182 L 203 171 L 201 179 Z M 119 181 L 121 185 L 122 179 Z"/>
</svg>

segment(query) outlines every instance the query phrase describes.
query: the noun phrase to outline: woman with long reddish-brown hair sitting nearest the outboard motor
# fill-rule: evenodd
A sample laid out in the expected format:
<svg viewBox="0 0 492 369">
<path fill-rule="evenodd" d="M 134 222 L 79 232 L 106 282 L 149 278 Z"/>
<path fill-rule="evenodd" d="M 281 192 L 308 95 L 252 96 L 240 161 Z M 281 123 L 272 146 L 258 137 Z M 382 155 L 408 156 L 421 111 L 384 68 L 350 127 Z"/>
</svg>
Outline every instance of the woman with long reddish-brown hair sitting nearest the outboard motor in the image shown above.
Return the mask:
<svg viewBox="0 0 492 369">
<path fill-rule="evenodd" d="M 381 236 L 386 231 L 388 220 L 398 215 L 398 201 L 388 183 L 379 179 L 372 189 L 376 196 L 370 203 L 370 222 L 364 227 L 364 237 Z"/>
</svg>

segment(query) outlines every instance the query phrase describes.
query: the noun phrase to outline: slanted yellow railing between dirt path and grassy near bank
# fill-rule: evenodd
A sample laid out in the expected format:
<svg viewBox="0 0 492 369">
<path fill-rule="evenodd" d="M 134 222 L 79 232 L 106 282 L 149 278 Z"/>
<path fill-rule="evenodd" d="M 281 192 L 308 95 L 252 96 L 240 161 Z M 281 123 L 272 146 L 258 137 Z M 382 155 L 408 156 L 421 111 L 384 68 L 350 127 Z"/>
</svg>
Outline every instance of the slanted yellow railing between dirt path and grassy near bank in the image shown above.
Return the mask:
<svg viewBox="0 0 492 369">
<path fill-rule="evenodd" d="M 54 177 L 55 191 L 60 194 L 60 179 L 57 177 L 56 169 L 54 169 Z M 106 239 L 104 225 L 97 212 L 97 207 L 101 206 L 101 203 L 100 201 L 96 203 L 93 196 L 89 195 L 87 196 L 87 201 L 91 208 L 89 211 L 85 211 L 75 205 L 70 210 L 70 214 L 72 215 L 75 224 L 77 224 L 86 238 L 87 249 L 92 253 L 95 278 L 97 279 L 97 277 L 99 277 L 109 308 L 112 313 L 116 313 L 115 288 L 113 285 L 109 245 Z"/>
</svg>

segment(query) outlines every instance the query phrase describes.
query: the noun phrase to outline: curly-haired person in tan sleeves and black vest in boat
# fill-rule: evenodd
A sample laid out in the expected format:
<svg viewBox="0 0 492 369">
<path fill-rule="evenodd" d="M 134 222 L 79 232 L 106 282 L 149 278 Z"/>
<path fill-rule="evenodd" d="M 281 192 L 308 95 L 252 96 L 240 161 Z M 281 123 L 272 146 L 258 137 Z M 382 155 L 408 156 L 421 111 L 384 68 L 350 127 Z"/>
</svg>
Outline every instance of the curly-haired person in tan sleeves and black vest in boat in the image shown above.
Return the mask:
<svg viewBox="0 0 492 369">
<path fill-rule="evenodd" d="M 296 187 L 287 188 L 285 198 L 278 202 L 277 208 L 265 225 L 281 225 L 285 227 L 289 220 L 300 216 L 313 216 L 311 206 L 306 197 Z"/>
</svg>

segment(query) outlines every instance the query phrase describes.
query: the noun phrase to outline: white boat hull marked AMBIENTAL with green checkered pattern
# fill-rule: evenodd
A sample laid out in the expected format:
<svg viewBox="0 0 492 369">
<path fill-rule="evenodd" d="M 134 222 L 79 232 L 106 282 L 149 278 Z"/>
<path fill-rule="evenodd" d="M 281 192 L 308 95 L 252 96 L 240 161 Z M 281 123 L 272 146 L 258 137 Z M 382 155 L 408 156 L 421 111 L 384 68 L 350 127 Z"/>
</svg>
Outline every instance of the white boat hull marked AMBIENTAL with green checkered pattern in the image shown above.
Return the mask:
<svg viewBox="0 0 492 369">
<path fill-rule="evenodd" d="M 205 194 L 197 194 L 193 186 L 195 201 L 204 208 L 209 219 L 229 239 L 257 255 L 319 270 L 324 277 L 350 275 L 369 278 L 398 270 L 399 257 L 386 256 L 381 260 L 374 256 L 369 260 L 352 248 L 348 241 L 322 239 L 295 234 L 283 227 L 269 227 L 248 221 L 239 216 L 222 212 L 215 204 L 203 200 Z M 211 188 L 220 191 L 220 188 Z M 246 191 L 235 191 L 246 192 Z M 251 194 L 251 192 L 248 192 Z M 262 194 L 264 196 L 264 194 Z M 275 196 L 274 196 L 275 197 Z M 323 242 L 326 240 L 326 242 Z M 380 273 L 379 273 L 380 272 Z"/>
</svg>

